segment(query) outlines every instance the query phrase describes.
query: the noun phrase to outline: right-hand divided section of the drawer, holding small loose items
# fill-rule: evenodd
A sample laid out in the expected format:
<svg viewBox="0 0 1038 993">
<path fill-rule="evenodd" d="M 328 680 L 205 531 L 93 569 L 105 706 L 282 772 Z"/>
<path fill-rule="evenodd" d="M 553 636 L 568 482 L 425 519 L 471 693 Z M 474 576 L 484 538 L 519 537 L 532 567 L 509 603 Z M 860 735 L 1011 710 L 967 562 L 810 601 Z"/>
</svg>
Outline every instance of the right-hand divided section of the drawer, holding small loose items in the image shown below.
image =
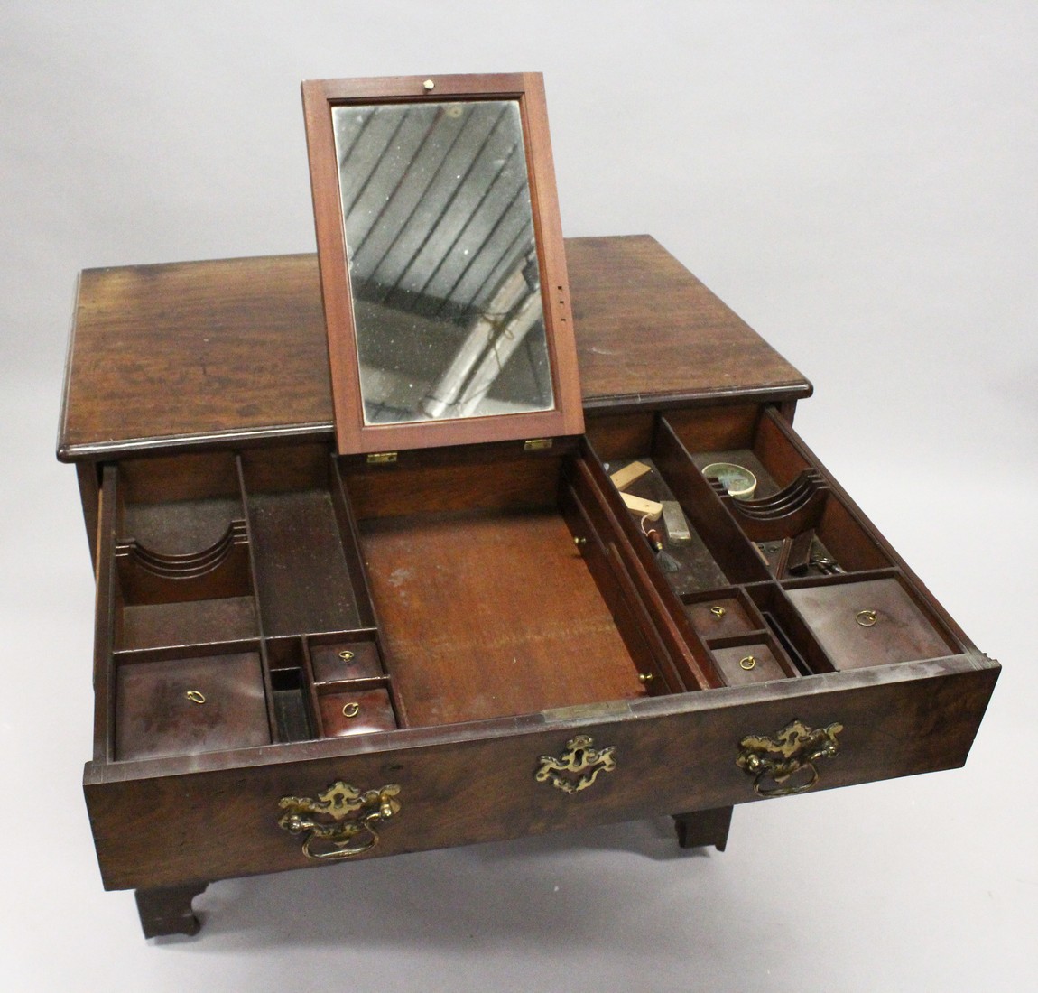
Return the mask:
<svg viewBox="0 0 1038 993">
<path fill-rule="evenodd" d="M 961 651 L 871 525 L 773 410 L 745 405 L 612 415 L 592 421 L 589 438 L 605 472 L 624 475 L 635 462 L 648 467 L 622 479 L 623 490 L 653 501 L 677 498 L 696 547 L 710 555 L 707 569 L 696 568 L 662 521 L 626 513 L 631 540 L 643 551 L 653 539 L 662 544 L 654 582 L 679 595 L 678 609 L 726 684 Z M 720 479 L 704 475 L 705 466 L 721 462 L 754 473 L 753 498 L 736 498 Z M 657 533 L 641 536 L 650 528 Z M 847 604 L 870 597 L 885 636 L 866 633 L 854 620 L 855 611 L 871 609 L 867 604 L 850 611 L 848 627 Z M 761 658 L 747 674 L 734 650 L 754 639 Z"/>
</svg>

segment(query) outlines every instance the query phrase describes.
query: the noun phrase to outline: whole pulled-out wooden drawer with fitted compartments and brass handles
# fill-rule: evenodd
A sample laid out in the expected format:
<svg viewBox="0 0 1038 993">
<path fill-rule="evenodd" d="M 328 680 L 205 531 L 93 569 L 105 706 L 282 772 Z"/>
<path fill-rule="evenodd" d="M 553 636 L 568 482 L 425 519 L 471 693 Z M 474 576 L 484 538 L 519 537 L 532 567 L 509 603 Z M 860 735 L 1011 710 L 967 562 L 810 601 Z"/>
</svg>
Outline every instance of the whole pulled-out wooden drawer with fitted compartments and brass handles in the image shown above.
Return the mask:
<svg viewBox="0 0 1038 993">
<path fill-rule="evenodd" d="M 687 523 L 671 561 L 609 480 L 635 460 L 630 489 Z M 740 460 L 742 504 L 701 471 Z M 393 465 L 323 443 L 127 460 L 98 548 L 85 789 L 109 888 L 952 768 L 998 675 L 760 405 Z"/>
</svg>

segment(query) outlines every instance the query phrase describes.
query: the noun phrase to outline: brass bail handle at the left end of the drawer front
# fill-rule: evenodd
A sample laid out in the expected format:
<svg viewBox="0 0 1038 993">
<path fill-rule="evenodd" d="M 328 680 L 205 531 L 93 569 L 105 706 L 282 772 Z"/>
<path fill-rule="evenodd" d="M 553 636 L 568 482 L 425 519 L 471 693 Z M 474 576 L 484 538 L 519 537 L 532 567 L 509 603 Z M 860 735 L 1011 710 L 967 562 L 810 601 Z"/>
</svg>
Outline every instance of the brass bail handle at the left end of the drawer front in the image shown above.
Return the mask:
<svg viewBox="0 0 1038 993">
<path fill-rule="evenodd" d="M 312 859 L 351 858 L 379 844 L 376 825 L 400 812 L 400 787 L 361 793 L 348 782 L 333 783 L 317 800 L 309 797 L 281 797 L 277 805 L 284 811 L 277 826 L 290 834 L 306 833 L 303 854 Z M 317 850 L 312 847 L 319 843 Z"/>
</svg>

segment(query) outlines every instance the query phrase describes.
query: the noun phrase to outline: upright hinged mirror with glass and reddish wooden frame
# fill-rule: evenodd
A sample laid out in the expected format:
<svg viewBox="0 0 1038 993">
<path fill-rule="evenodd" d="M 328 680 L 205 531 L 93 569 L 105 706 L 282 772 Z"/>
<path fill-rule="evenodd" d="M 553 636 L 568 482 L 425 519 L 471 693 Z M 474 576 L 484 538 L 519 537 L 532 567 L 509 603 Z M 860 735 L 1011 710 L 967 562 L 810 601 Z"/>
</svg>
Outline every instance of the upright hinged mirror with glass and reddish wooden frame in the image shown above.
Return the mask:
<svg viewBox="0 0 1038 993">
<path fill-rule="evenodd" d="M 303 83 L 343 453 L 583 430 L 538 74 Z"/>
</svg>

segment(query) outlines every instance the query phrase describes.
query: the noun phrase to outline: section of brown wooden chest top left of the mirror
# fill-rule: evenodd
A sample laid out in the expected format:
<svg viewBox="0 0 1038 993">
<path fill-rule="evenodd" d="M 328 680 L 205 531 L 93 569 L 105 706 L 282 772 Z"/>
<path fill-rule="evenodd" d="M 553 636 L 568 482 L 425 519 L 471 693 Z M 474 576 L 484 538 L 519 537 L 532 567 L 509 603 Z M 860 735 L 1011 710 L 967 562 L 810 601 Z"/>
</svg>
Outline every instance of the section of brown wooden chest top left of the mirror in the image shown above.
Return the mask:
<svg viewBox="0 0 1038 993">
<path fill-rule="evenodd" d="M 328 349 L 312 255 L 89 270 L 75 322 L 64 458 L 120 441 L 316 421 L 327 431 Z"/>
</svg>

